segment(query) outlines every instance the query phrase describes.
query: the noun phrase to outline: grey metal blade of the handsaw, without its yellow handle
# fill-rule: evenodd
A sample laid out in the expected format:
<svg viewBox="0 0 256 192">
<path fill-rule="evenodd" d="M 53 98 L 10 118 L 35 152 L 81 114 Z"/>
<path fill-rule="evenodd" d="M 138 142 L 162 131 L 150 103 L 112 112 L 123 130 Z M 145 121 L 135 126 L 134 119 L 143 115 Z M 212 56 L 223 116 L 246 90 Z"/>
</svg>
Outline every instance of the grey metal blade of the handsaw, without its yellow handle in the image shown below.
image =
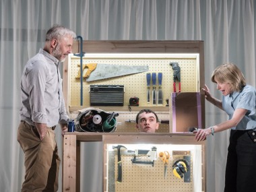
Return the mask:
<svg viewBox="0 0 256 192">
<path fill-rule="evenodd" d="M 141 73 L 148 71 L 147 65 L 110 65 L 98 63 L 97 67 L 90 76 L 86 79 L 86 82 L 92 82 L 99 79 L 108 79 L 111 77 L 120 77 L 124 75 L 131 75 L 135 73 Z"/>
</svg>

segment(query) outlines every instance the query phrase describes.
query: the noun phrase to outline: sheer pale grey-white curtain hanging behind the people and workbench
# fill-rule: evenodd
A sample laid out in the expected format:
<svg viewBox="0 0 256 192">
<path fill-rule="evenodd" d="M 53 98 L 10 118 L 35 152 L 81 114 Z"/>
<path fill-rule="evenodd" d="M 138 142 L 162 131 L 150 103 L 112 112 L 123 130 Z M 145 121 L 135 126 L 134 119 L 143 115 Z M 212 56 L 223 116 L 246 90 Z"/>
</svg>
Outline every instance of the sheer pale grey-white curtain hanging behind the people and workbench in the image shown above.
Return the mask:
<svg viewBox="0 0 256 192">
<path fill-rule="evenodd" d="M 26 61 L 44 44 L 46 30 L 62 24 L 84 40 L 204 40 L 205 83 L 213 69 L 234 62 L 255 86 L 255 15 L 253 0 L 0 0 L 0 186 L 20 191 L 24 156 L 16 140 L 20 121 L 20 77 Z M 206 125 L 227 116 L 206 102 Z M 207 191 L 223 191 L 229 131 L 207 139 Z M 61 131 L 57 130 L 62 155 Z M 102 191 L 96 159 L 101 143 L 83 144 L 81 191 Z M 86 174 L 87 173 L 87 174 Z M 60 186 L 62 189 L 61 172 Z M 73 192 L 73 191 L 72 191 Z M 197 191 L 196 191 L 197 192 Z"/>
</svg>

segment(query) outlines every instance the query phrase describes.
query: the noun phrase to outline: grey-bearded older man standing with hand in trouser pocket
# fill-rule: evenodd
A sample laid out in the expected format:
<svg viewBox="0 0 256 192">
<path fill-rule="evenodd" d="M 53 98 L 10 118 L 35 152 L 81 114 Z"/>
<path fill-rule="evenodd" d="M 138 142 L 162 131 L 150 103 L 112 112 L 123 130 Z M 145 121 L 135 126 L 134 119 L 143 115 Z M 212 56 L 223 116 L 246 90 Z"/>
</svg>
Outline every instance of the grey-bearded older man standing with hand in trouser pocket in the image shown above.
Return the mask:
<svg viewBox="0 0 256 192">
<path fill-rule="evenodd" d="M 59 164 L 55 127 L 67 131 L 59 63 L 69 53 L 75 32 L 53 26 L 46 33 L 44 49 L 32 57 L 22 73 L 22 108 L 17 139 L 24 150 L 25 181 L 22 192 L 57 191 Z"/>
</svg>

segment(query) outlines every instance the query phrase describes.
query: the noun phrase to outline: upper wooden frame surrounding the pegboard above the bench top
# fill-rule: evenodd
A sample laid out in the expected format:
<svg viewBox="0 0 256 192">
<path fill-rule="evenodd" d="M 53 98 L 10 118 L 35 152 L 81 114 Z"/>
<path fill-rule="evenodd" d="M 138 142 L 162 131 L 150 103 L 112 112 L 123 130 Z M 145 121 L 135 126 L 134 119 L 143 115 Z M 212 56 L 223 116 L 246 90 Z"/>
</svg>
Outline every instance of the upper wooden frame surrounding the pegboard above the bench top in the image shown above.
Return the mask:
<svg viewBox="0 0 256 192">
<path fill-rule="evenodd" d="M 85 53 L 199 53 L 199 90 L 201 94 L 201 119 L 205 127 L 205 100 L 201 88 L 205 85 L 203 41 L 172 41 L 172 40 L 86 40 L 83 42 Z M 73 43 L 73 53 L 79 53 L 79 42 Z M 68 61 L 63 63 L 63 85 L 68 84 Z M 82 109 L 84 106 L 69 108 L 69 92 L 63 86 L 67 112 Z M 158 108 L 159 109 L 159 108 Z M 154 107 L 152 108 L 154 110 Z"/>
</svg>

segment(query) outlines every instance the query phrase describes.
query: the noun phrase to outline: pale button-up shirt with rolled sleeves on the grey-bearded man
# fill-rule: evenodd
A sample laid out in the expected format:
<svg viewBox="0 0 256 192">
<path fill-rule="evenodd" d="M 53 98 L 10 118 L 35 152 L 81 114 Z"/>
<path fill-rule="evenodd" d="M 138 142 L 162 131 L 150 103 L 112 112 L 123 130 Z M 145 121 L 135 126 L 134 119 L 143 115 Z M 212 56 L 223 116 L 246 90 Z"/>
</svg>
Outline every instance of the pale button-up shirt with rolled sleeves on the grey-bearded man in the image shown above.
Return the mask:
<svg viewBox="0 0 256 192">
<path fill-rule="evenodd" d="M 68 122 L 58 64 L 58 59 L 42 49 L 26 64 L 21 79 L 21 120 L 47 127 Z"/>
</svg>

